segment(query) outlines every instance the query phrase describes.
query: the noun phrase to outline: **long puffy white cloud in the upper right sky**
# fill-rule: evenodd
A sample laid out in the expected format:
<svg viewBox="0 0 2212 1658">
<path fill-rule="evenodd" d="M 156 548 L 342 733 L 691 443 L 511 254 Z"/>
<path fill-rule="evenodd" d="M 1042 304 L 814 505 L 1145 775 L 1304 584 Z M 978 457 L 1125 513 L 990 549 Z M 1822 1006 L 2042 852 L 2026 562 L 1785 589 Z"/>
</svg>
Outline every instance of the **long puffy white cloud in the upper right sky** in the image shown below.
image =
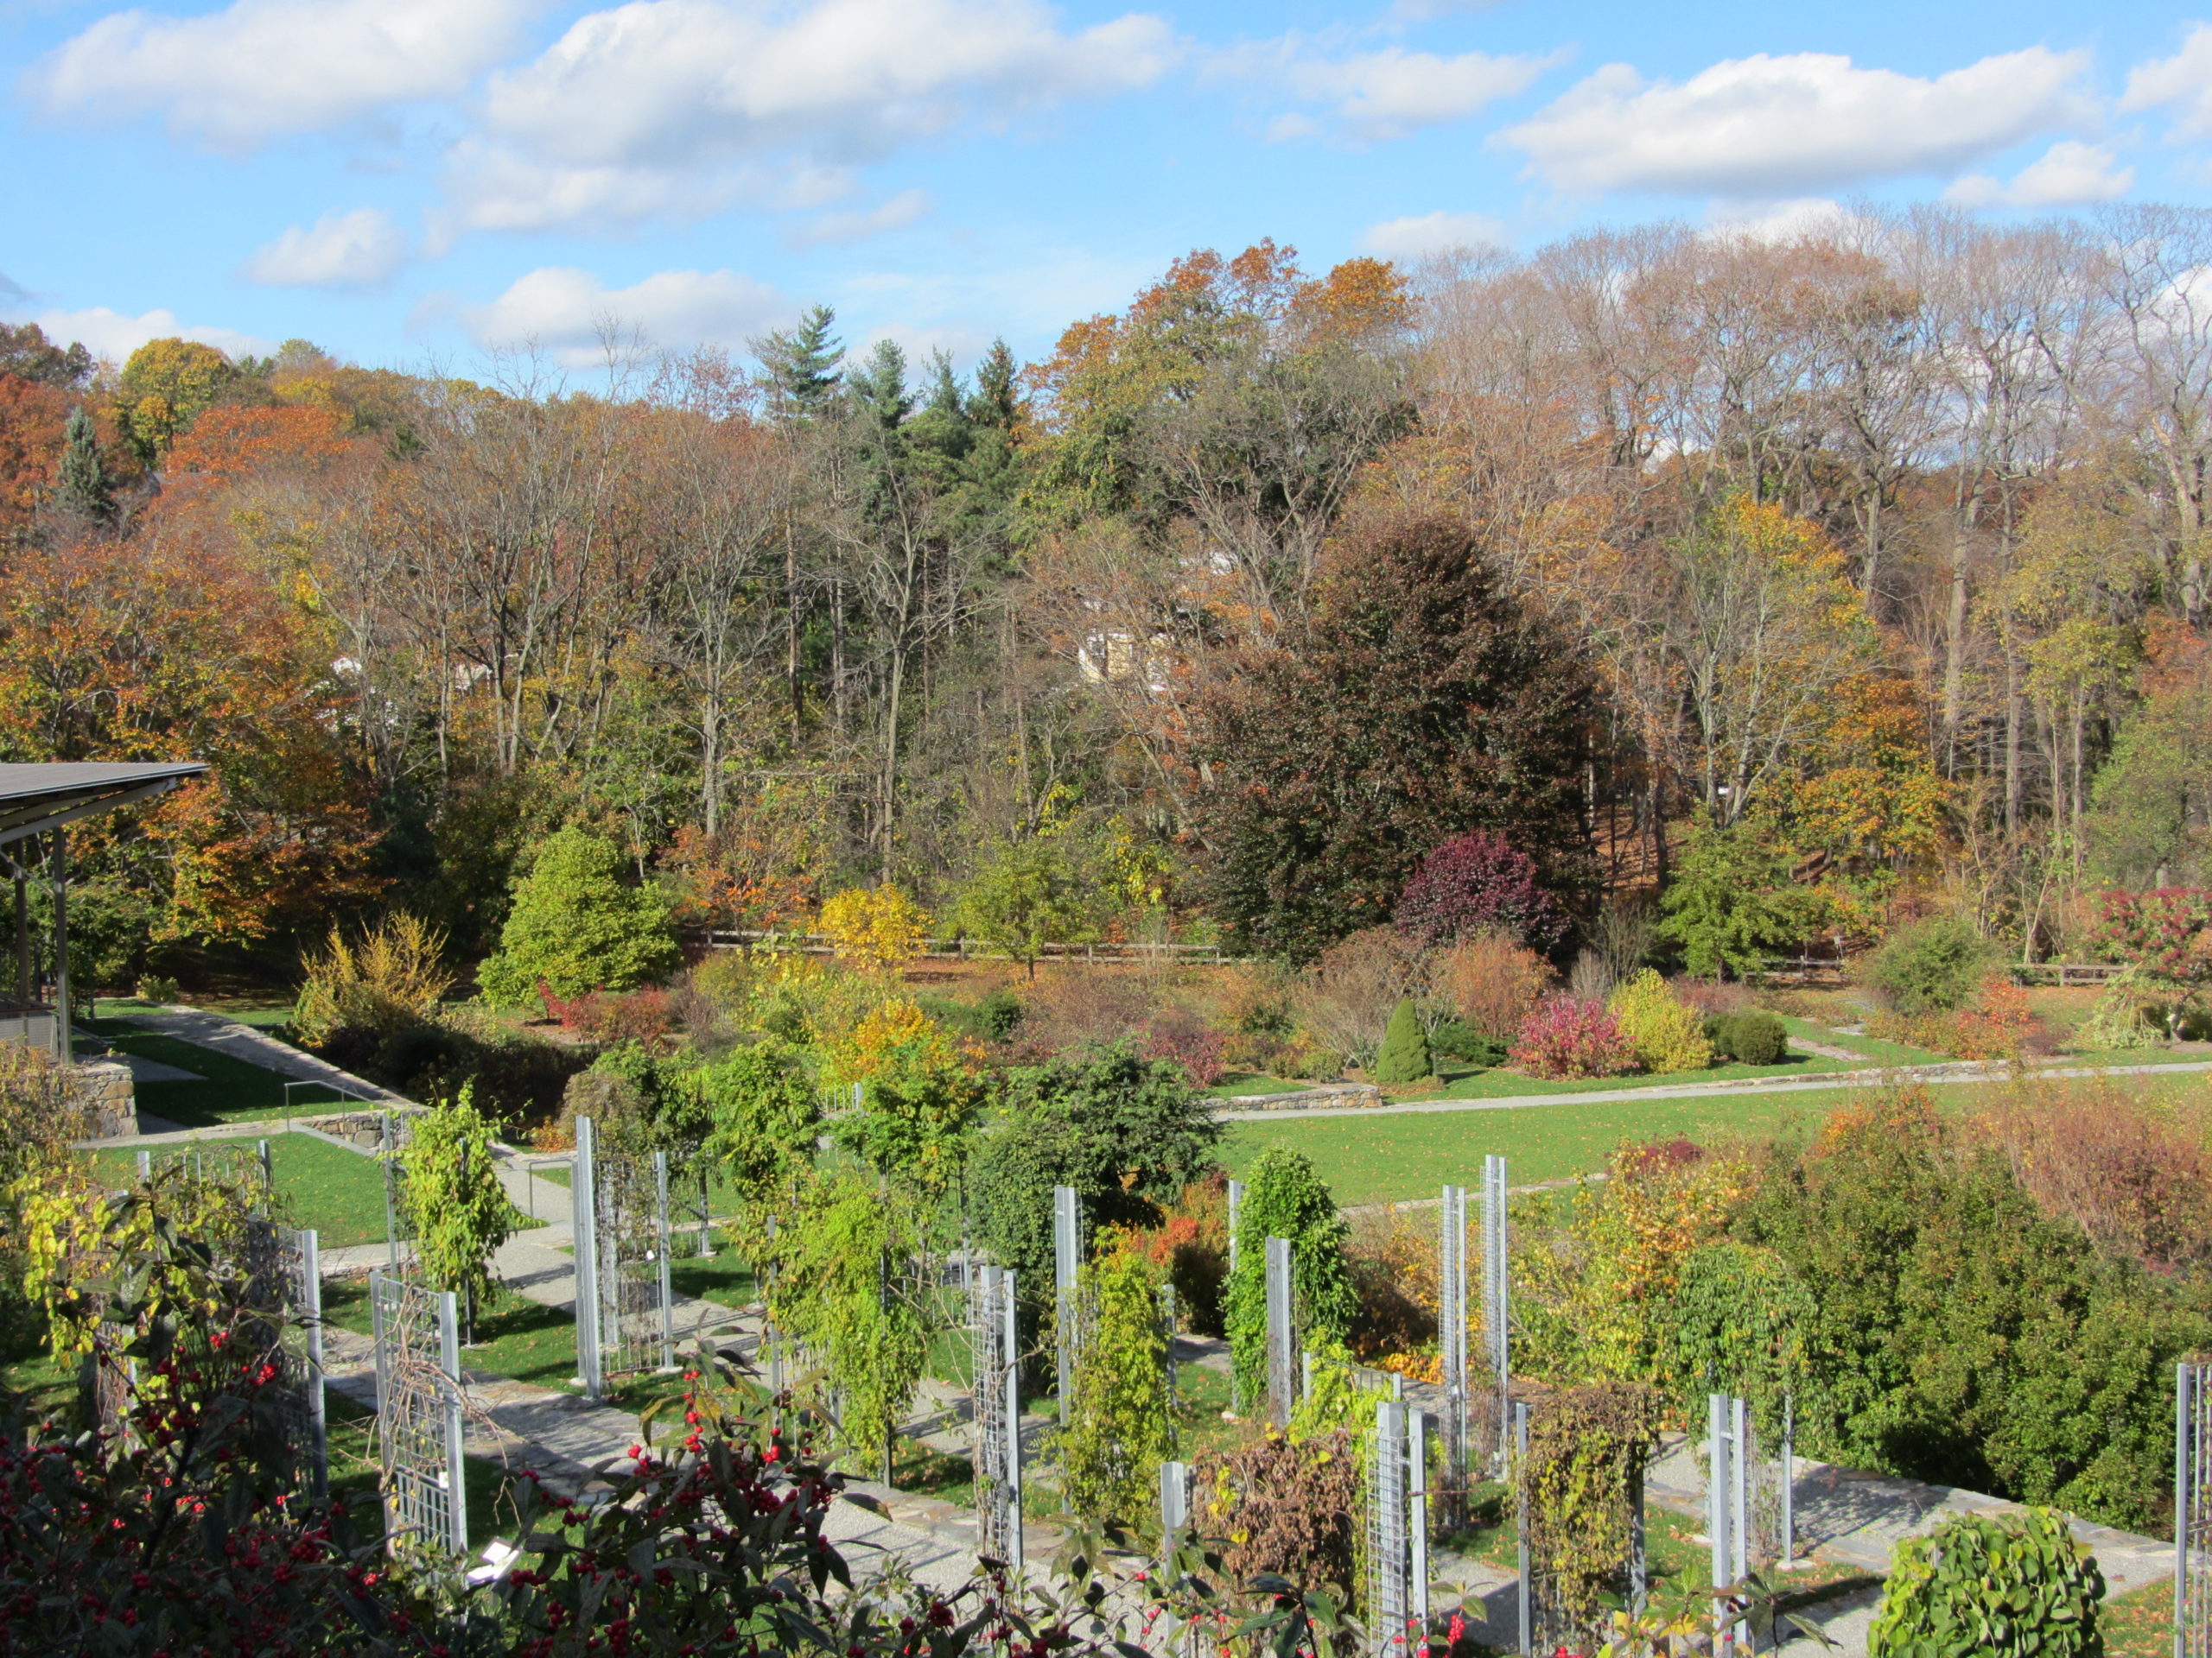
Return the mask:
<svg viewBox="0 0 2212 1658">
<path fill-rule="evenodd" d="M 2042 130 L 2095 119 L 2086 53 L 2044 46 L 1936 80 L 1832 53 L 1734 57 L 1688 82 L 1608 64 L 1500 137 L 1564 190 L 1794 197 L 1953 172 Z"/>
</svg>

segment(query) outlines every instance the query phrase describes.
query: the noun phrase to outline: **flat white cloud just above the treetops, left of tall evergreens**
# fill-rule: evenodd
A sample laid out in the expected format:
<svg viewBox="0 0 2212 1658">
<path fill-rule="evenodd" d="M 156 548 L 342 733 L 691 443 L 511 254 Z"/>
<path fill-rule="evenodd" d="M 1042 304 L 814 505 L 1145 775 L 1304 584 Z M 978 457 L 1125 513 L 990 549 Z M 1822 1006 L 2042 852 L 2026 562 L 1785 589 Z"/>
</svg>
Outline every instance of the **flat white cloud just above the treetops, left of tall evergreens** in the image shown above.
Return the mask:
<svg viewBox="0 0 2212 1658">
<path fill-rule="evenodd" d="M 790 309 L 774 287 L 734 270 L 664 270 L 608 287 L 586 270 L 546 265 L 489 305 L 460 307 L 460 318 L 478 345 L 533 343 L 573 367 L 599 358 L 608 327 L 668 347 L 741 345 Z"/>
</svg>

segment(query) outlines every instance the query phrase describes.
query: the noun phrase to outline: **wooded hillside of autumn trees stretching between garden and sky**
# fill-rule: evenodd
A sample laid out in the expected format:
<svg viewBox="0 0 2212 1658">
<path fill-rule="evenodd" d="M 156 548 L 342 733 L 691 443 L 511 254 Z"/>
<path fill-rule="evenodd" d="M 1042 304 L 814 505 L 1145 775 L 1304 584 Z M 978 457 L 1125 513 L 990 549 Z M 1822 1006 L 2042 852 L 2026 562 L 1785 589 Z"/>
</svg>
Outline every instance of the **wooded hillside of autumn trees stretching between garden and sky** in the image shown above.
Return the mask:
<svg viewBox="0 0 2212 1658">
<path fill-rule="evenodd" d="M 91 970 L 611 833 L 679 920 L 896 880 L 1310 959 L 1489 829 L 1593 935 L 2205 884 L 2212 214 L 1194 252 L 1044 363 L 827 309 L 604 374 L 0 343 L 0 752 L 217 763 L 80 836 Z M 1044 900 L 1040 900 L 1044 902 Z"/>
</svg>

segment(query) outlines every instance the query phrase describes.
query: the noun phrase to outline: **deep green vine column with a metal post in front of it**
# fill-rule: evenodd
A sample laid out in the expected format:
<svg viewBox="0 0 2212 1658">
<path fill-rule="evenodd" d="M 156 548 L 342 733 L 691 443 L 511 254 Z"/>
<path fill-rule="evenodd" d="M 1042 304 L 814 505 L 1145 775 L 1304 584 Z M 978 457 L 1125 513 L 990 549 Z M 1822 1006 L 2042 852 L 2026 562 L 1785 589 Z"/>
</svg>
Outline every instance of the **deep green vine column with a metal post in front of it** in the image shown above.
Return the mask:
<svg viewBox="0 0 2212 1658">
<path fill-rule="evenodd" d="M 1303 1152 L 1267 1147 L 1245 1172 L 1237 1209 L 1237 1271 L 1223 1298 L 1230 1362 L 1245 1399 L 1267 1393 L 1267 1240 L 1292 1249 L 1292 1318 L 1307 1346 L 1347 1342 L 1358 1291 L 1345 1260 L 1349 1227 Z"/>
</svg>

